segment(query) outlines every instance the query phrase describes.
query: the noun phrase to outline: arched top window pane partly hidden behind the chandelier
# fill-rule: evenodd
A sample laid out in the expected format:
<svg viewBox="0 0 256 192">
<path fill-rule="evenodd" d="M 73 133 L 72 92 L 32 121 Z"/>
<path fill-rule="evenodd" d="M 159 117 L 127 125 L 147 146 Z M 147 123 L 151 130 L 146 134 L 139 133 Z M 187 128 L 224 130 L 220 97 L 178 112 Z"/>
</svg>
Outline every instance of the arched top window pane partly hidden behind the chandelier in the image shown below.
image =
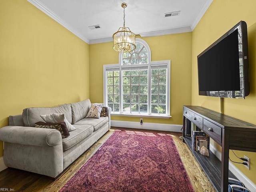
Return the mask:
<svg viewBox="0 0 256 192">
<path fill-rule="evenodd" d="M 149 50 L 150 51 L 150 50 Z M 148 64 L 148 49 L 144 44 L 136 42 L 136 49 L 131 52 L 125 52 L 122 55 L 122 65 Z"/>
</svg>

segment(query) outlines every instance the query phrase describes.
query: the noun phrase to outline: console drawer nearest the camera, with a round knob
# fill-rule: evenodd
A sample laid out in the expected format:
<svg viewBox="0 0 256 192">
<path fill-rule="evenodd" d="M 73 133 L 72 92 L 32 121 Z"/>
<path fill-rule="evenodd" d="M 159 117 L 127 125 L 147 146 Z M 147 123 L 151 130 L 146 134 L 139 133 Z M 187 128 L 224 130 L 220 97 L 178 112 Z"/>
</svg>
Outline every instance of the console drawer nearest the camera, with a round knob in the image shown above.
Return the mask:
<svg viewBox="0 0 256 192">
<path fill-rule="evenodd" d="M 208 134 L 208 136 L 210 136 L 214 141 L 221 145 L 221 127 L 204 119 L 204 132 Z"/>
</svg>

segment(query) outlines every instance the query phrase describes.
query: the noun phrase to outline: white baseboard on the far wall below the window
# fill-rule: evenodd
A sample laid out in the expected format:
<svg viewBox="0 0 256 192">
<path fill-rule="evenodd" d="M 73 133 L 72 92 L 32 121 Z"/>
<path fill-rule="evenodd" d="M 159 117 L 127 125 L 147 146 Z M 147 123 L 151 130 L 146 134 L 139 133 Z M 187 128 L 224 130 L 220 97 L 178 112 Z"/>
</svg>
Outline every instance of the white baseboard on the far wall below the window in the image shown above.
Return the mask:
<svg viewBox="0 0 256 192">
<path fill-rule="evenodd" d="M 174 124 L 143 123 L 141 125 L 140 122 L 111 120 L 111 126 L 113 126 L 113 127 L 122 127 L 122 128 L 182 132 L 181 131 L 182 125 L 174 125 Z"/>
</svg>

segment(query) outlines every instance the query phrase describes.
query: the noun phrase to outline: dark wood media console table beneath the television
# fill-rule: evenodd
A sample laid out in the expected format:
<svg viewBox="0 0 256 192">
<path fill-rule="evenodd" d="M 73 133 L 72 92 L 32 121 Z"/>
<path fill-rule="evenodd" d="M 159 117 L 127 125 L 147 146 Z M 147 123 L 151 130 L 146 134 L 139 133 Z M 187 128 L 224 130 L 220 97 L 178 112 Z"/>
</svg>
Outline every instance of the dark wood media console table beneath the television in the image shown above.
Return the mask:
<svg viewBox="0 0 256 192">
<path fill-rule="evenodd" d="M 210 152 L 210 156 L 192 149 L 192 138 L 185 135 L 186 119 L 204 131 L 222 148 L 222 160 Z M 229 150 L 256 152 L 256 125 L 200 107 L 183 107 L 183 142 L 186 142 L 217 192 L 228 191 L 228 177 L 234 175 L 228 170 Z"/>
</svg>

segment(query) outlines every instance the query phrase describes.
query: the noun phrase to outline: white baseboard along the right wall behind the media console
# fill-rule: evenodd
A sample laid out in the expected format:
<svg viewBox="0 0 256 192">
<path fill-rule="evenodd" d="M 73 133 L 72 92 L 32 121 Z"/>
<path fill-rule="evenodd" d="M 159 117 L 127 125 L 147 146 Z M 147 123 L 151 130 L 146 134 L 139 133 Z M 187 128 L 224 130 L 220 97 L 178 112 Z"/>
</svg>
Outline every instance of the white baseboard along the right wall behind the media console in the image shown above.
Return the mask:
<svg viewBox="0 0 256 192">
<path fill-rule="evenodd" d="M 211 144 L 210 150 L 219 160 L 221 160 L 221 152 L 218 151 Z M 256 191 L 256 185 L 248 177 L 246 177 L 236 166 L 234 166 L 234 164 L 229 162 L 228 168 L 234 174 L 234 176 L 236 176 L 236 178 L 240 180 L 240 182 L 242 182 L 246 188 L 248 188 L 248 190 L 250 190 L 251 192 Z"/>
</svg>

